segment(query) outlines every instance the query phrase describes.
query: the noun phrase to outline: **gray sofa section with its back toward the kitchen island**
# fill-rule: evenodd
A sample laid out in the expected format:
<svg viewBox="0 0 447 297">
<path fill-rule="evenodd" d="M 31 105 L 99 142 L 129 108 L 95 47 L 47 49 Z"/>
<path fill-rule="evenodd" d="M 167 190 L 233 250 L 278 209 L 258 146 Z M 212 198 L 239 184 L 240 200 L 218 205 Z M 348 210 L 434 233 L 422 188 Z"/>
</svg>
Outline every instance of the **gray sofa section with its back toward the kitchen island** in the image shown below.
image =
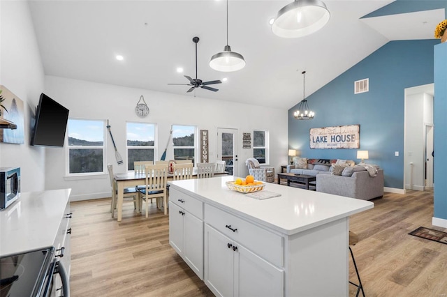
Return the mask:
<svg viewBox="0 0 447 297">
<path fill-rule="evenodd" d="M 352 176 L 316 175 L 316 192 L 370 200 L 383 196 L 383 169 L 376 176 L 367 171 L 353 172 Z"/>
</svg>

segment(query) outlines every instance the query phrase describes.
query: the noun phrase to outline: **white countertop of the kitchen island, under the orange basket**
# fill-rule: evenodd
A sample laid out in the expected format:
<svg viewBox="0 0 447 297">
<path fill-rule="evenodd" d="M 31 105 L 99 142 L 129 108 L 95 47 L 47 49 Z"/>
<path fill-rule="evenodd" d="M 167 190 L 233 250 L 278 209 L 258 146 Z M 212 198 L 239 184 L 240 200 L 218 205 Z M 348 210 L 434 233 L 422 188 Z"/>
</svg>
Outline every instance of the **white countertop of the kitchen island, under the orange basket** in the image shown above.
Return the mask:
<svg viewBox="0 0 447 297">
<path fill-rule="evenodd" d="M 371 201 L 267 183 L 264 190 L 280 197 L 258 200 L 229 190 L 236 176 L 169 181 L 171 187 L 208 204 L 263 224 L 282 234 L 295 234 L 373 208 Z"/>
</svg>

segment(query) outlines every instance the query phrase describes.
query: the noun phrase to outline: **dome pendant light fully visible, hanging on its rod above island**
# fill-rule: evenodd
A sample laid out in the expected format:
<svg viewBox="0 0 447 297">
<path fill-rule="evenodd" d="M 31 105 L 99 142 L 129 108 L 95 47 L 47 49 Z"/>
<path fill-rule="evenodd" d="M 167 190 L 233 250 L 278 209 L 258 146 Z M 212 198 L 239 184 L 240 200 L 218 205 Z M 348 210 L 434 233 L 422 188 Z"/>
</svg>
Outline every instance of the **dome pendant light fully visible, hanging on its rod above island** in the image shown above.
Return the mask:
<svg viewBox="0 0 447 297">
<path fill-rule="evenodd" d="M 226 0 L 226 46 L 223 52 L 218 52 L 211 57 L 210 67 L 217 71 L 230 72 L 241 70 L 245 66 L 242 54 L 231 52 L 228 45 L 228 0 Z"/>
</svg>

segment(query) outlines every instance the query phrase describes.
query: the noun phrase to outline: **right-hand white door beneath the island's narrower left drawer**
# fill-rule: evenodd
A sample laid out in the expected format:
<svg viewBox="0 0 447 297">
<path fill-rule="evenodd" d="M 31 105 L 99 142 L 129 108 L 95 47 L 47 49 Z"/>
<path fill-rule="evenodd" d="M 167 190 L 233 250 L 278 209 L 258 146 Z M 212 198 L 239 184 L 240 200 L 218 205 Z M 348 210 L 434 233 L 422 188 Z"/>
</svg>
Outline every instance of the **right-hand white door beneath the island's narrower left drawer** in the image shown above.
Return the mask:
<svg viewBox="0 0 447 297">
<path fill-rule="evenodd" d="M 183 216 L 183 259 L 203 280 L 203 221 L 185 211 Z"/>
</svg>

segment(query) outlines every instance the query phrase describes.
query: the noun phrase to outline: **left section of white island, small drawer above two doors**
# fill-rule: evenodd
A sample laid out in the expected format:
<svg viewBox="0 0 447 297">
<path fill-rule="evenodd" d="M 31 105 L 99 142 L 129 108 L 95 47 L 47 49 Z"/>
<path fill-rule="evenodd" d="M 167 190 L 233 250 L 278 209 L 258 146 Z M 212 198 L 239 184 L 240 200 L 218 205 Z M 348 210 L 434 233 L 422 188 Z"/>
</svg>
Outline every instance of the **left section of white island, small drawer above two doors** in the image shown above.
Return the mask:
<svg viewBox="0 0 447 297">
<path fill-rule="evenodd" d="M 171 188 L 169 243 L 203 280 L 203 202 Z"/>
</svg>

